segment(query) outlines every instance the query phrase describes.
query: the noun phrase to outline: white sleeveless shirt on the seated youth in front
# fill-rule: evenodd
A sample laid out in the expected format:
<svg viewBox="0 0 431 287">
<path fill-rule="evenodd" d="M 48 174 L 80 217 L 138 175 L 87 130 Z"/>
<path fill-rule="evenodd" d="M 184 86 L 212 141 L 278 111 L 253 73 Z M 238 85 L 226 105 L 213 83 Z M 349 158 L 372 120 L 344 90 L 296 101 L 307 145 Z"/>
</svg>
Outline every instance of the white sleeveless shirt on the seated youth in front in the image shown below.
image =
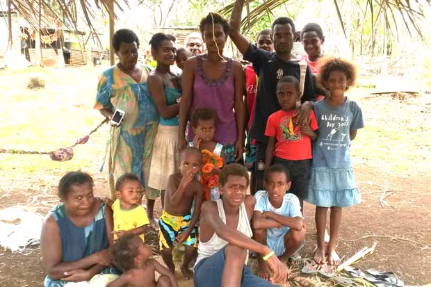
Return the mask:
<svg viewBox="0 0 431 287">
<path fill-rule="evenodd" d="M 225 208 L 223 208 L 222 199 L 215 200 L 215 203 L 217 204 L 218 216 L 220 216 L 220 219 L 222 220 L 222 222 L 226 224 Z M 248 238 L 251 238 L 253 235 L 252 227 L 250 227 L 250 221 L 248 220 L 248 217 L 247 217 L 247 210 L 245 209 L 244 202 L 239 207 L 238 226 L 236 227 L 236 230 L 240 231 Z M 199 245 L 197 245 L 197 259 L 196 259 L 195 266 L 202 259 L 205 259 L 206 257 L 209 257 L 215 254 L 215 252 L 218 252 L 220 249 L 225 247 L 227 243 L 228 242 L 226 240 L 222 240 L 220 237 L 218 237 L 215 232 L 211 237 L 211 239 L 206 241 L 205 243 L 199 240 Z M 247 250 L 247 257 L 245 258 L 245 264 L 247 264 L 247 260 L 248 260 L 248 250 Z"/>
</svg>

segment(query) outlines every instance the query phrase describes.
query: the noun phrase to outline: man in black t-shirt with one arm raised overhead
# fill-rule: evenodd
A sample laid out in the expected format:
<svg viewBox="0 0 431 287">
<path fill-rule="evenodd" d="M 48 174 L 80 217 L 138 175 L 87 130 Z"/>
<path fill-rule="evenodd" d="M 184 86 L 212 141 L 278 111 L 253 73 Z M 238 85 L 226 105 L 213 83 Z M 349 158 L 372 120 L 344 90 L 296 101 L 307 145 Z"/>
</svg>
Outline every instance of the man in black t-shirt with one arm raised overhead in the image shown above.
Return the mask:
<svg viewBox="0 0 431 287">
<path fill-rule="evenodd" d="M 279 17 L 273 23 L 272 38 L 274 52 L 258 49 L 239 32 L 241 12 L 244 0 L 236 0 L 230 19 L 229 36 L 243 54 L 244 60 L 253 63 L 254 71 L 259 76 L 257 85 L 256 104 L 254 105 L 254 117 L 250 134 L 257 140 L 256 150 L 256 190 L 263 189 L 263 171 L 265 170 L 266 121 L 268 117 L 279 110 L 275 89 L 277 81 L 282 76 L 295 76 L 300 79 L 300 58 L 291 54 L 295 38 L 295 24 L 288 17 Z M 304 93 L 301 98 L 302 105 L 296 117 L 296 122 L 308 122 L 309 114 L 313 109 L 310 101 L 315 101 L 313 79 L 311 71 L 307 67 L 304 81 Z"/>
</svg>

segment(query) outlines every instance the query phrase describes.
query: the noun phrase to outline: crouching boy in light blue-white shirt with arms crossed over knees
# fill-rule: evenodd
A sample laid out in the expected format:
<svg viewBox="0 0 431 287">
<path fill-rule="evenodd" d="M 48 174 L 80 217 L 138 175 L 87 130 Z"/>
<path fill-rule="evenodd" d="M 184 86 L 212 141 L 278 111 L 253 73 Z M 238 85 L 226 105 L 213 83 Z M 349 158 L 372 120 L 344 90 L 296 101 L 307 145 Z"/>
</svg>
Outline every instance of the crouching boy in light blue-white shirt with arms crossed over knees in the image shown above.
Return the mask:
<svg viewBox="0 0 431 287">
<path fill-rule="evenodd" d="M 291 187 L 289 172 L 283 165 L 271 165 L 266 171 L 266 190 L 254 195 L 256 206 L 253 213 L 253 238 L 267 245 L 286 262 L 305 237 L 300 201 L 293 193 L 286 193 Z M 259 257 L 257 274 L 270 279 L 268 263 Z"/>
</svg>

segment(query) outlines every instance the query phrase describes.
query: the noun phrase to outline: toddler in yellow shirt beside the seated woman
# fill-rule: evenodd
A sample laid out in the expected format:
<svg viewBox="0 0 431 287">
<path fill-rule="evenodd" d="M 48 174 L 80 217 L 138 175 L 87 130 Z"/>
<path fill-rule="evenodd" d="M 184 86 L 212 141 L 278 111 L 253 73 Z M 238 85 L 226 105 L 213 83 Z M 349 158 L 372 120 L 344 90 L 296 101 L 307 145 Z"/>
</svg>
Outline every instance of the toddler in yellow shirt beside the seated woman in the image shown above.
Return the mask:
<svg viewBox="0 0 431 287">
<path fill-rule="evenodd" d="M 115 183 L 116 197 L 112 204 L 114 239 L 126 234 L 135 234 L 144 241 L 144 232 L 149 229 L 147 211 L 140 205 L 143 187 L 135 174 L 123 174 Z"/>
</svg>

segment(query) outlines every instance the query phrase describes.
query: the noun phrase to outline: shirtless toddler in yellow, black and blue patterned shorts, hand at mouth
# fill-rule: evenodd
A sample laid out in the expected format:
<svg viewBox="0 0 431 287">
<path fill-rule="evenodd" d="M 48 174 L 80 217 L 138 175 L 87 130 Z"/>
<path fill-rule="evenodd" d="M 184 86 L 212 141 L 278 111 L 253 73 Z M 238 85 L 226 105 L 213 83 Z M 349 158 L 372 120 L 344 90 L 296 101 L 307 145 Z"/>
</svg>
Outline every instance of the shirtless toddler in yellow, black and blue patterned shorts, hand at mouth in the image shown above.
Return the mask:
<svg viewBox="0 0 431 287">
<path fill-rule="evenodd" d="M 158 220 L 160 249 L 163 261 L 174 273 L 172 247 L 184 243 L 185 254 L 181 272 L 186 279 L 193 277 L 190 262 L 196 256 L 197 228 L 202 204 L 202 185 L 196 179 L 200 171 L 202 157 L 199 149 L 187 147 L 179 156 L 179 172 L 171 174 L 165 192 L 165 206 Z M 194 206 L 193 206 L 194 202 Z M 194 209 L 191 214 L 192 207 Z"/>
</svg>

